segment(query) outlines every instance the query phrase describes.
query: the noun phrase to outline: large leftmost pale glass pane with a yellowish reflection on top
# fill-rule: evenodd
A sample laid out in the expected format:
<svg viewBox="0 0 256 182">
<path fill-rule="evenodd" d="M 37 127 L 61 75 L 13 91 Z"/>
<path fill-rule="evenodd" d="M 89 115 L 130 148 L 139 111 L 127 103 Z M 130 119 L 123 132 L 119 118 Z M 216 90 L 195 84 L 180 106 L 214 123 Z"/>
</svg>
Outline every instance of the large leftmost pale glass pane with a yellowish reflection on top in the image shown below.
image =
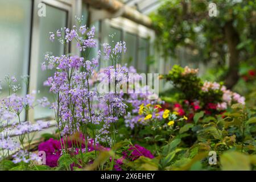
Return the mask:
<svg viewBox="0 0 256 182">
<path fill-rule="evenodd" d="M 28 75 L 31 28 L 31 0 L 0 0 L 0 97 L 9 95 L 3 82 L 5 75 L 15 76 L 22 87 L 18 94 L 26 94 L 20 78 Z"/>
</svg>

